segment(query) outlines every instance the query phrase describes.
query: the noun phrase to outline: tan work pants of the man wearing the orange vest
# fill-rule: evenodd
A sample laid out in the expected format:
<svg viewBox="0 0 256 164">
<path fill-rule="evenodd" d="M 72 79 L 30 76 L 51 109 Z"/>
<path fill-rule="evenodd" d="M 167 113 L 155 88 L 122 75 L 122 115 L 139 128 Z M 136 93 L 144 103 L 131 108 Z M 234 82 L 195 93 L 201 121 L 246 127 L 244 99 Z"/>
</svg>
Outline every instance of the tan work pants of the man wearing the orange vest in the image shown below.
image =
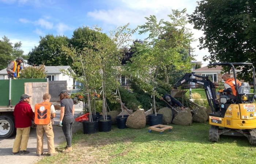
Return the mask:
<svg viewBox="0 0 256 164">
<path fill-rule="evenodd" d="M 47 144 L 48 144 L 48 153 L 54 154 L 54 133 L 52 129 L 52 122 L 47 125 L 37 125 L 37 154 L 42 154 L 44 152 L 44 133 L 47 136 Z"/>
</svg>

